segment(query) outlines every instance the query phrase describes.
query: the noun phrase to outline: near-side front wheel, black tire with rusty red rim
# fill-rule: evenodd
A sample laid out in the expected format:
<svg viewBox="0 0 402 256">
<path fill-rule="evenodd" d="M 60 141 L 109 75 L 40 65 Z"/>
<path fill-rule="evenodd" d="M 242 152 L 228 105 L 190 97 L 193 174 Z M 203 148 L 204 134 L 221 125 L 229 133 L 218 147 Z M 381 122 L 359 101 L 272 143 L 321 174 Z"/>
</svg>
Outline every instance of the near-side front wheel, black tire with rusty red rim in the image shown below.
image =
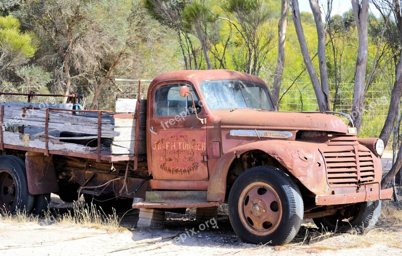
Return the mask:
<svg viewBox="0 0 402 256">
<path fill-rule="evenodd" d="M 298 187 L 272 166 L 256 166 L 241 174 L 230 190 L 228 204 L 234 231 L 248 243 L 286 244 L 303 221 Z"/>
</svg>

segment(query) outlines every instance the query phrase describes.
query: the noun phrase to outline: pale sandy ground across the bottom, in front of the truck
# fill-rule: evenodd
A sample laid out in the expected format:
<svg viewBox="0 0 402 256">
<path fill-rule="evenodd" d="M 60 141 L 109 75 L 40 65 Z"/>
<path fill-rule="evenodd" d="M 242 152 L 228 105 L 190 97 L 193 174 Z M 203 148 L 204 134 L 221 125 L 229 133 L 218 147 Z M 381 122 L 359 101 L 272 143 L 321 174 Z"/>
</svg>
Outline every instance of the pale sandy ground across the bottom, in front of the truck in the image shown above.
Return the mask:
<svg viewBox="0 0 402 256">
<path fill-rule="evenodd" d="M 187 228 L 194 225 L 188 224 Z M 233 231 L 201 231 L 183 241 L 172 236 L 185 229 L 164 228 L 133 231 L 105 231 L 103 229 L 39 226 L 28 224 L 0 224 L 1 255 L 400 255 L 402 228 L 377 228 L 365 235 L 336 234 L 303 241 L 307 230 L 304 224 L 297 238 L 286 246 L 260 246 L 239 242 Z M 381 223 L 380 225 L 381 226 Z M 225 228 L 224 228 L 225 229 Z M 195 229 L 196 230 L 196 229 Z M 167 237 L 167 238 L 165 238 Z M 165 239 L 163 239 L 165 238 Z"/>
</svg>

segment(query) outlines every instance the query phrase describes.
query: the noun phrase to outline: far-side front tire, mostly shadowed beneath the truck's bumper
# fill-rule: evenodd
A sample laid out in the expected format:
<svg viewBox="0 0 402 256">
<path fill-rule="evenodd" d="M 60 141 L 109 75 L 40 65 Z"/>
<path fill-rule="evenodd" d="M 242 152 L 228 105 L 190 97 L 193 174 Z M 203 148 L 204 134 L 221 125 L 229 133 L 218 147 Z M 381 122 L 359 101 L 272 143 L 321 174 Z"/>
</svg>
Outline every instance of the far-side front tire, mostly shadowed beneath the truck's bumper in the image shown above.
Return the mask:
<svg viewBox="0 0 402 256">
<path fill-rule="evenodd" d="M 364 233 L 375 226 L 380 213 L 381 201 L 376 200 L 346 206 L 334 215 L 315 218 L 313 221 L 317 227 L 326 231 L 348 231 L 355 228 L 357 232 Z"/>
</svg>

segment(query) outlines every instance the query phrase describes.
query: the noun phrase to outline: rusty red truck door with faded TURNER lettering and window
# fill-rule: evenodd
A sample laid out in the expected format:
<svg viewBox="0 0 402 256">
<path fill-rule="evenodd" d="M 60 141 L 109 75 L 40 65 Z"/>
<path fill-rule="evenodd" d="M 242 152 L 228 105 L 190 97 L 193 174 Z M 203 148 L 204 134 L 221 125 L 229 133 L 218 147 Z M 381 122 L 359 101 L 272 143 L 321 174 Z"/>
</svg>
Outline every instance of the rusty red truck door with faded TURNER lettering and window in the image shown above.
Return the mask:
<svg viewBox="0 0 402 256">
<path fill-rule="evenodd" d="M 183 98 L 182 86 L 188 86 L 194 97 Z M 150 141 L 151 172 L 154 180 L 208 180 L 206 125 L 195 117 L 205 117 L 191 85 L 165 83 L 155 87 L 151 107 Z"/>
</svg>

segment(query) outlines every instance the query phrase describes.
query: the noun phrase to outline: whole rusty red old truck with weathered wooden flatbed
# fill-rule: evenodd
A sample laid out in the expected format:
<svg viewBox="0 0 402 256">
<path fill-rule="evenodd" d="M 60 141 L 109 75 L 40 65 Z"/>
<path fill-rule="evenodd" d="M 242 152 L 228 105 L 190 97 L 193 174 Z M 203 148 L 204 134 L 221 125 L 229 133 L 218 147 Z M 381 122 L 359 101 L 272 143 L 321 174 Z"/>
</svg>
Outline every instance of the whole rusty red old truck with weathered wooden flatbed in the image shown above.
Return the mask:
<svg viewBox="0 0 402 256">
<path fill-rule="evenodd" d="M 303 218 L 371 229 L 392 195 L 380 189 L 380 139 L 358 138 L 343 113 L 277 112 L 265 82 L 236 71 L 159 75 L 147 100 L 118 100 L 114 112 L 0 104 L 0 205 L 9 212 L 37 214 L 50 193 L 79 193 L 129 203 L 138 225 L 151 226 L 165 211 L 197 208 L 205 218 L 228 203 L 243 241 L 285 244 Z"/>
</svg>

